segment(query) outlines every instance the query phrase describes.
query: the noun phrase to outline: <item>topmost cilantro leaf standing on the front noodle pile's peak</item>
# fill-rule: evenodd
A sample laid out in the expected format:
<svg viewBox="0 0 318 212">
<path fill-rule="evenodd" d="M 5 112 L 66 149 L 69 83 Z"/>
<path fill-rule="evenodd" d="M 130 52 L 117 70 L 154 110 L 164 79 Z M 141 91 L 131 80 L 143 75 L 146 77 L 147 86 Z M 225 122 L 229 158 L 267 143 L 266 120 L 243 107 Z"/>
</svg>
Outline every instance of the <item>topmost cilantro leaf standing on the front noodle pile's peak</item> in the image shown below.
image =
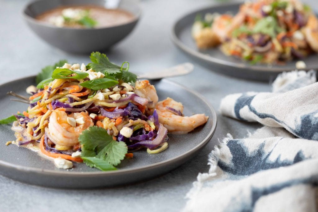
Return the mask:
<svg viewBox="0 0 318 212">
<path fill-rule="evenodd" d="M 102 72 L 105 75 L 112 75 L 121 72 L 121 67 L 111 63 L 106 54 L 101 54 L 96 51 L 91 53 L 90 58 L 92 63 L 89 63 L 88 65 L 96 72 Z"/>
</svg>

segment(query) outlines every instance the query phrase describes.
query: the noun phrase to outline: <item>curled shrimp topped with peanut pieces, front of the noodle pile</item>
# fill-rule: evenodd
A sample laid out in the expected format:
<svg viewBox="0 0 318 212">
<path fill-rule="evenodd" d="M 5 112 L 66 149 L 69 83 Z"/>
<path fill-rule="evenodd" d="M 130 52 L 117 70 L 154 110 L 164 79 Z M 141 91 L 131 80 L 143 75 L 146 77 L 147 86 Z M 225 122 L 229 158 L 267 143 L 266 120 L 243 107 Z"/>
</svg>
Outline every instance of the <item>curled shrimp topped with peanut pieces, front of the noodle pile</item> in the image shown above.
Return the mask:
<svg viewBox="0 0 318 212">
<path fill-rule="evenodd" d="M 67 122 L 67 117 L 72 117 L 74 119 L 83 117 L 85 123 L 77 124 L 77 127 L 72 127 Z M 78 138 L 80 133 L 93 125 L 92 119 L 85 112 L 67 115 L 64 111 L 53 110 L 48 124 L 48 137 L 57 145 L 74 146 L 79 142 Z"/>
</svg>

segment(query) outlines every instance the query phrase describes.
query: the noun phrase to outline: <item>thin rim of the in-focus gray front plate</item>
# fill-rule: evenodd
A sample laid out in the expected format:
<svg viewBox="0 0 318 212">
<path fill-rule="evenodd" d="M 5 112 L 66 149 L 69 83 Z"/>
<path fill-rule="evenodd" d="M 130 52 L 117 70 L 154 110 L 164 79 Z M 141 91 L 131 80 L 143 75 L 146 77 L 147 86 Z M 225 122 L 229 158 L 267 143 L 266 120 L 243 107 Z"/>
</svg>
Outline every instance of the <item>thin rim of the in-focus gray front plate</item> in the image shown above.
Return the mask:
<svg viewBox="0 0 318 212">
<path fill-rule="evenodd" d="M 9 83 L 12 83 L 14 81 L 19 81 L 19 80 L 28 80 L 28 79 L 35 79 L 36 75 L 32 75 L 32 76 L 28 76 L 28 77 L 22 77 L 22 78 L 18 78 L 18 79 L 14 79 L 11 80 L 9 82 L 0 84 L 1 86 L 5 86 Z M 167 81 L 170 84 L 176 85 L 181 87 L 182 89 L 186 90 L 187 92 L 190 92 L 194 95 L 196 95 L 197 97 L 199 97 L 210 109 L 212 115 L 211 117 L 209 117 L 209 119 L 212 119 L 212 127 L 210 132 L 208 133 L 208 135 L 194 148 L 184 152 L 181 155 L 178 155 L 176 157 L 173 157 L 169 160 L 164 160 L 164 161 L 160 161 L 154 164 L 149 164 L 146 166 L 141 166 L 141 167 L 137 167 L 137 168 L 126 168 L 126 169 L 117 169 L 117 170 L 113 170 L 113 171 L 92 171 L 92 172 L 67 172 L 67 171 L 60 171 L 60 170 L 50 170 L 50 169 L 45 169 L 45 168 L 34 168 L 34 167 L 24 167 L 22 165 L 16 165 L 16 164 L 10 164 L 10 162 L 6 162 L 3 160 L 0 160 L 0 168 L 5 167 L 5 168 L 10 168 L 10 169 L 15 169 L 16 171 L 20 171 L 20 172 L 32 172 L 34 174 L 50 174 L 52 175 L 57 175 L 57 176 L 66 176 L 66 177 L 70 177 L 70 176 L 74 176 L 74 177 L 99 177 L 99 176 L 103 176 L 103 175 L 107 175 L 107 176 L 112 176 L 112 175 L 118 175 L 118 174 L 129 174 L 129 173 L 135 173 L 135 172 L 142 172 L 142 171 L 146 171 L 147 169 L 152 169 L 152 168 L 157 168 L 157 167 L 161 167 L 164 165 L 169 165 L 171 163 L 173 163 L 174 161 L 178 161 L 184 158 L 188 158 L 189 155 L 192 152 L 196 152 L 197 150 L 201 149 L 202 147 L 204 147 L 212 138 L 216 127 L 217 127 L 217 115 L 216 115 L 216 111 L 214 110 L 214 108 L 211 106 L 211 104 L 208 102 L 207 99 L 205 99 L 205 97 L 203 95 L 201 95 L 200 93 L 197 93 L 195 91 L 192 91 L 190 88 L 181 85 L 177 82 L 174 82 L 172 80 L 169 79 L 161 79 L 164 81 Z"/>
</svg>

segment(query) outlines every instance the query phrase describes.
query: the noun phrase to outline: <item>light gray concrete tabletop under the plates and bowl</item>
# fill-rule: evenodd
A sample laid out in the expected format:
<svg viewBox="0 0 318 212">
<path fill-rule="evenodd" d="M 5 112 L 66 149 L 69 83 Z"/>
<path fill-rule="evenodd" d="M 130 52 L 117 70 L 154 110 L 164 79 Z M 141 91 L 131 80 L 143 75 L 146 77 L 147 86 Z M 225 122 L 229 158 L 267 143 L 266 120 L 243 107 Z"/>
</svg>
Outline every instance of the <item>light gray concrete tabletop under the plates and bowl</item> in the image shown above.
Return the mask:
<svg viewBox="0 0 318 212">
<path fill-rule="evenodd" d="M 170 40 L 176 18 L 206 5 L 212 0 L 144 0 L 143 13 L 135 30 L 120 44 L 106 52 L 111 61 L 130 62 L 131 71 L 151 72 L 191 61 Z M 306 1 L 318 9 L 315 1 Z M 89 62 L 88 55 L 59 51 L 36 37 L 25 25 L 22 0 L 0 0 L 0 84 L 38 73 L 41 67 L 66 58 L 70 62 Z M 171 78 L 201 93 L 218 110 L 226 94 L 246 91 L 269 91 L 268 83 L 234 79 L 219 75 L 195 64 L 195 70 Z M 191 161 L 153 180 L 118 188 L 70 190 L 42 188 L 0 176 L 0 211 L 179 211 L 186 193 L 199 172 L 207 172 L 207 156 L 227 133 L 244 137 L 258 124 L 248 124 L 221 116 L 210 143 Z M 1 135 L 1 132 L 0 132 Z M 1 141 L 4 145 L 4 141 Z M 2 147 L 3 148 L 3 147 Z"/>
</svg>

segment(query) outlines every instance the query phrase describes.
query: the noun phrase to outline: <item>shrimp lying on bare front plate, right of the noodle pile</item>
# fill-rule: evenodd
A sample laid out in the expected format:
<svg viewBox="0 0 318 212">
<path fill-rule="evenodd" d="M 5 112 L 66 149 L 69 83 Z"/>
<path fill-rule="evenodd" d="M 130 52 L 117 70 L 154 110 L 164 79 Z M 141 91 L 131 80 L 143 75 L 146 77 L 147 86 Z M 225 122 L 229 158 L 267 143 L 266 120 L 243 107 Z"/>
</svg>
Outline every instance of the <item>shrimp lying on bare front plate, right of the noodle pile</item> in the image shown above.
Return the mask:
<svg viewBox="0 0 318 212">
<path fill-rule="evenodd" d="M 183 105 L 171 98 L 167 98 L 158 102 L 156 111 L 158 113 L 159 122 L 168 129 L 172 134 L 186 134 L 194 130 L 194 128 L 207 122 L 208 116 L 204 114 L 195 114 L 192 116 L 176 115 L 167 107 L 171 107 L 177 111 L 183 112 Z"/>
</svg>

